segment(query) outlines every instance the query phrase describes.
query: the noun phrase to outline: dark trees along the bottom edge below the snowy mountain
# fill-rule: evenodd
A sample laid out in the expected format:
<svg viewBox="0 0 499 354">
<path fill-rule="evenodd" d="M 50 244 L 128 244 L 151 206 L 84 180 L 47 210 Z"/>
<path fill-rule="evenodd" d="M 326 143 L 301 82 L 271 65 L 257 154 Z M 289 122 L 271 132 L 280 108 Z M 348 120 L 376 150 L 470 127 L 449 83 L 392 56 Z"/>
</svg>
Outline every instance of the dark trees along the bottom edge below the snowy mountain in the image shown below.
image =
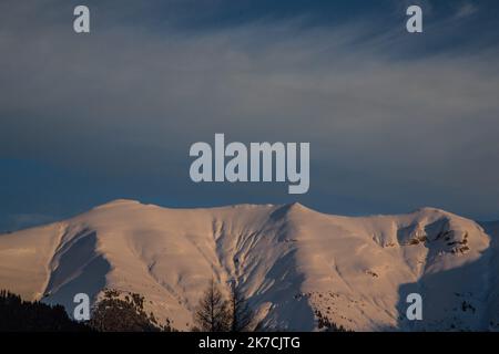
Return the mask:
<svg viewBox="0 0 499 354">
<path fill-rule="evenodd" d="M 39 301 L 23 301 L 19 295 L 0 291 L 0 332 L 176 332 L 166 319 L 161 323 L 144 308 L 144 296 L 106 289 L 91 309 L 90 321 L 72 320 L 63 306 Z M 345 331 L 320 313 L 319 329 Z M 194 312 L 193 332 L 278 331 L 257 323 L 240 289 L 232 284 L 226 299 L 211 280 Z"/>
</svg>

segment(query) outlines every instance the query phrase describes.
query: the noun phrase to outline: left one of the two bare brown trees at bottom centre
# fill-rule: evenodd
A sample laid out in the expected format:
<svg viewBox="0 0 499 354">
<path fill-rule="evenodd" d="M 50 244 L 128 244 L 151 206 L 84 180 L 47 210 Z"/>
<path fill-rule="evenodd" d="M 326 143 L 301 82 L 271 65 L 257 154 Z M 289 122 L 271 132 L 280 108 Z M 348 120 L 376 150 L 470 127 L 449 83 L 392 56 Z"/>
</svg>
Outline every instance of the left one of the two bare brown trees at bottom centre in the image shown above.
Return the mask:
<svg viewBox="0 0 499 354">
<path fill-rule="evenodd" d="M 228 303 L 212 279 L 194 315 L 196 327 L 203 332 L 227 332 L 230 320 Z"/>
</svg>

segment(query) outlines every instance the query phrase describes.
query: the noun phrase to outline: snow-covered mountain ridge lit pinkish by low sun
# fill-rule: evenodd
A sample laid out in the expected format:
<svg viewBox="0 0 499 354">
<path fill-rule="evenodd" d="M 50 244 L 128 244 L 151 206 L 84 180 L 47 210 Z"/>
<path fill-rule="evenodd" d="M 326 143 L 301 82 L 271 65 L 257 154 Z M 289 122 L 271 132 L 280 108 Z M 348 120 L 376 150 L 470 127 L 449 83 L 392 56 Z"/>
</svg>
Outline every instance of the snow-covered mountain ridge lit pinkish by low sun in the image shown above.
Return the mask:
<svg viewBox="0 0 499 354">
<path fill-rule="evenodd" d="M 299 204 L 167 209 L 116 200 L 0 236 L 0 288 L 61 303 L 138 292 L 186 330 L 208 280 L 236 280 L 267 326 L 356 331 L 499 329 L 499 226 L 439 209 L 324 215 Z M 406 296 L 424 299 L 422 321 Z"/>
</svg>

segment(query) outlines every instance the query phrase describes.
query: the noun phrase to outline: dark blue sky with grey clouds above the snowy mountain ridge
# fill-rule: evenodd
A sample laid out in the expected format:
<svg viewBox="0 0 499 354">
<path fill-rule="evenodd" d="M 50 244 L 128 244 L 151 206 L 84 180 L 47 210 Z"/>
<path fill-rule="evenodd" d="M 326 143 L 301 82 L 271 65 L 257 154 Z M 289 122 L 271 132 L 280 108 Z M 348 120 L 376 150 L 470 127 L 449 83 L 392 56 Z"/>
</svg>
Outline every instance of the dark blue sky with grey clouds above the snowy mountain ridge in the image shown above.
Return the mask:
<svg viewBox="0 0 499 354">
<path fill-rule="evenodd" d="M 0 231 L 116 198 L 497 219 L 498 19 L 486 0 L 2 1 Z M 214 133 L 310 142 L 309 192 L 191 183 Z"/>
</svg>

